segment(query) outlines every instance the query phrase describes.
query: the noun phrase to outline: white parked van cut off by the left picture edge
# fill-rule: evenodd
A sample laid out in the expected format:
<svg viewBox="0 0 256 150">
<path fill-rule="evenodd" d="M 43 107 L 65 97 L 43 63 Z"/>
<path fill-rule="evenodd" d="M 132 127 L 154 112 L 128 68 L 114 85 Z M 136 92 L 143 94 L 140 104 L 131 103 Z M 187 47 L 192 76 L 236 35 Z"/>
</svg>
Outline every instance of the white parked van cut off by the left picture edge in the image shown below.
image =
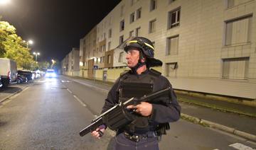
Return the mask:
<svg viewBox="0 0 256 150">
<path fill-rule="evenodd" d="M 0 58 L 1 83 L 4 87 L 17 79 L 17 64 L 11 59 Z"/>
</svg>

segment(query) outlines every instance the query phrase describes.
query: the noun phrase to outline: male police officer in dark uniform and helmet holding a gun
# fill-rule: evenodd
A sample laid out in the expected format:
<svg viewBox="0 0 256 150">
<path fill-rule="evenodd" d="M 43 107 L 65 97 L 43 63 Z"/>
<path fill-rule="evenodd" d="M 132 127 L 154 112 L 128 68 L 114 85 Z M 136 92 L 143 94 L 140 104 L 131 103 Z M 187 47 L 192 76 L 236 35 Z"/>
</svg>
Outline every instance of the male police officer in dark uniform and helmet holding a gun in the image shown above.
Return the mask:
<svg viewBox="0 0 256 150">
<path fill-rule="evenodd" d="M 161 66 L 162 62 L 154 59 L 154 45 L 145 37 L 134 37 L 124 47 L 127 52 L 127 66 L 130 71 L 124 72 L 114 83 L 105 100 L 102 112 L 112 108 L 120 101 L 131 97 L 141 97 L 147 93 L 171 87 L 168 79 L 150 67 Z M 166 134 L 169 122 L 175 122 L 180 117 L 181 107 L 176 94 L 171 88 L 169 95 L 156 98 L 152 103 L 142 102 L 139 105 L 129 105 L 127 109 L 136 112 L 136 119 L 129 125 L 117 130 L 115 149 L 159 149 L 161 134 Z M 100 139 L 104 132 L 101 125 L 92 132 L 92 136 Z"/>
</svg>

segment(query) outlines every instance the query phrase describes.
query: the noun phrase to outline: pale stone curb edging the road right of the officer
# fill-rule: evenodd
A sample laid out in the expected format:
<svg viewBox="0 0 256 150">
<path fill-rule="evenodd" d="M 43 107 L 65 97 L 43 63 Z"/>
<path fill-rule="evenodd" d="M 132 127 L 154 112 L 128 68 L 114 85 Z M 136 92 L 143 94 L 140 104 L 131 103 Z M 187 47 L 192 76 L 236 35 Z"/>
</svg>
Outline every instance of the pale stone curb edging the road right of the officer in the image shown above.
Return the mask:
<svg viewBox="0 0 256 150">
<path fill-rule="evenodd" d="M 244 137 L 245 139 L 250 139 L 253 142 L 256 142 L 256 135 L 254 135 L 254 134 L 250 134 L 250 133 L 247 133 L 247 132 L 242 132 L 242 131 L 240 131 L 238 129 L 235 129 L 235 128 L 232 128 L 232 127 L 227 127 L 225 125 L 220 125 L 218 123 L 210 122 L 208 120 L 202 120 L 198 117 L 193 117 L 191 115 L 186 115 L 186 114 L 183 114 L 183 113 L 181 113 L 181 118 L 183 120 L 188 120 L 188 121 L 196 123 L 198 125 L 203 125 L 203 126 L 208 126 L 208 127 L 214 128 L 214 129 L 219 129 L 219 130 L 222 130 L 224 132 L 235 134 L 237 136 Z"/>
</svg>

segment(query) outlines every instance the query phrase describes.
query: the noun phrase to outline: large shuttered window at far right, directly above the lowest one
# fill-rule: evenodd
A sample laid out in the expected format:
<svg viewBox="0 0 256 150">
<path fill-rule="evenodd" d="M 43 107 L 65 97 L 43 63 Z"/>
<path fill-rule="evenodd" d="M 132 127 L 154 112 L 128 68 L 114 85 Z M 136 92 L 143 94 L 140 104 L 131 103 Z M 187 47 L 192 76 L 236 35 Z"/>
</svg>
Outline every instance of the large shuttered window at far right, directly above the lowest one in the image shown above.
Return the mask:
<svg viewBox="0 0 256 150">
<path fill-rule="evenodd" d="M 247 43 L 251 40 L 252 16 L 226 22 L 225 45 Z"/>
</svg>

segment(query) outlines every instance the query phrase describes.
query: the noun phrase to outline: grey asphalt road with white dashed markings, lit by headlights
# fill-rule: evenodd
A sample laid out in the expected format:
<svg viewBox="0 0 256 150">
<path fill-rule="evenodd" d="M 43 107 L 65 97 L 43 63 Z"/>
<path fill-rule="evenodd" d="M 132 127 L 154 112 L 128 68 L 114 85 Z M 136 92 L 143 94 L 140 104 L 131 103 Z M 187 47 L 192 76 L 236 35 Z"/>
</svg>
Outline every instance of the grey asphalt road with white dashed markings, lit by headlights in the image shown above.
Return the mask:
<svg viewBox="0 0 256 150">
<path fill-rule="evenodd" d="M 36 81 L 1 103 L 0 149 L 111 149 L 114 139 L 110 131 L 100 140 L 78 134 L 100 114 L 105 97 L 102 91 L 62 77 Z M 172 123 L 160 143 L 163 150 L 234 146 L 252 149 L 256 144 L 184 120 Z"/>
</svg>

